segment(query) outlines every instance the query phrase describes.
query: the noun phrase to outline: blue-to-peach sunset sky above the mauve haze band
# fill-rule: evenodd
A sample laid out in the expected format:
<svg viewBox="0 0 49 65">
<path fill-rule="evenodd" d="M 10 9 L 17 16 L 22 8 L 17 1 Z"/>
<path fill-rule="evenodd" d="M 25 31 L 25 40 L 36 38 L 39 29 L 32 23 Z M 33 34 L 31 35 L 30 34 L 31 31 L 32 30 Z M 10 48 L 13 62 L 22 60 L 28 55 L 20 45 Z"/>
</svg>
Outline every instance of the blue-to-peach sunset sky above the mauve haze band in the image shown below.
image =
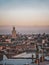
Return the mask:
<svg viewBox="0 0 49 65">
<path fill-rule="evenodd" d="M 0 0 L 0 26 L 48 26 L 49 0 Z"/>
</svg>

